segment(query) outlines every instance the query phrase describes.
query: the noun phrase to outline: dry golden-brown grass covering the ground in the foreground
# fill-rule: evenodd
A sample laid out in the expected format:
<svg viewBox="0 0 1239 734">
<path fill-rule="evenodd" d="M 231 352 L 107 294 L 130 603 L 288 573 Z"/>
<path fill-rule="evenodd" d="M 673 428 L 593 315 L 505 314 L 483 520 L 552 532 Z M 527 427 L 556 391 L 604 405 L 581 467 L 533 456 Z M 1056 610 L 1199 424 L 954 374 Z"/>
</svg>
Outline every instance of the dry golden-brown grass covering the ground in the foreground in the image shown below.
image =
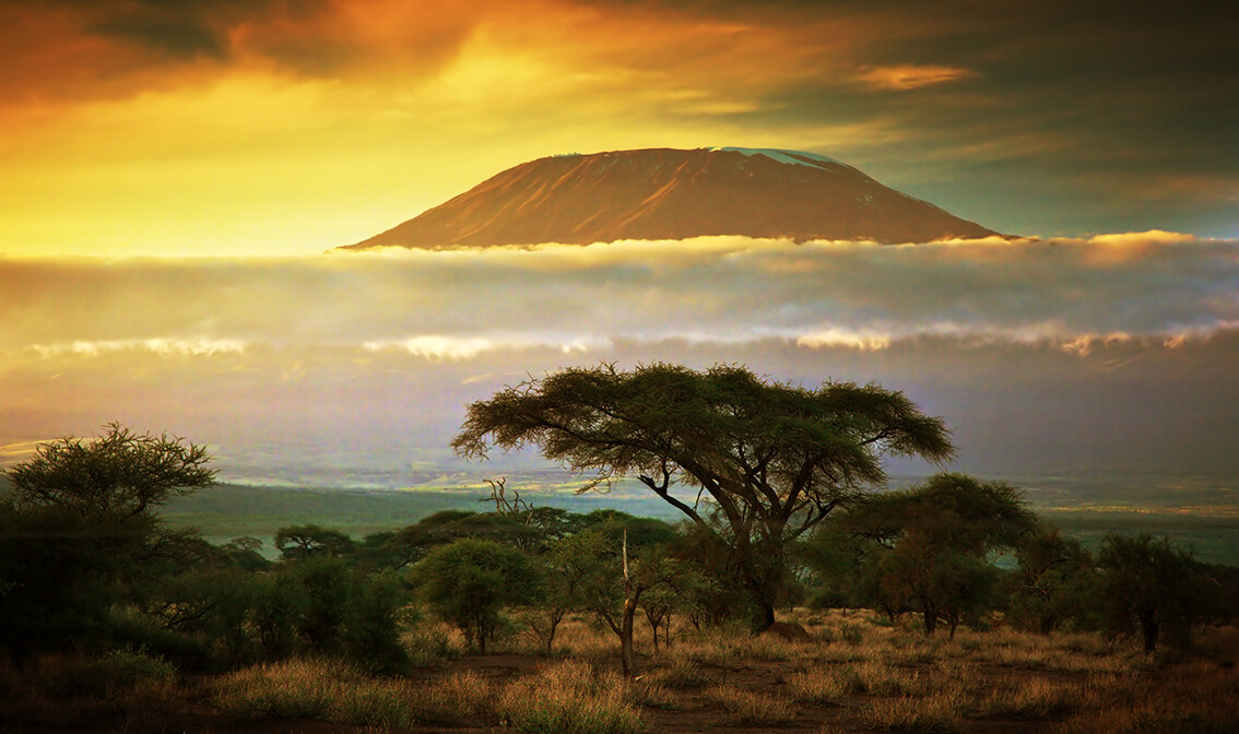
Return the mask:
<svg viewBox="0 0 1239 734">
<path fill-rule="evenodd" d="M 680 629 L 678 642 L 658 652 L 648 634 L 639 635 L 639 675 L 631 682 L 617 675 L 615 635 L 584 619 L 565 623 L 554 656 L 539 652 L 541 666 L 527 673 L 455 660 L 461 649 L 451 630 L 432 628 L 406 642 L 449 670 L 420 672 L 419 681 L 302 660 L 219 676 L 204 697 L 237 719 L 310 717 L 375 730 L 629 734 L 653 719 L 655 732 L 793 723 L 823 732 L 953 732 L 990 722 L 1041 722 L 1058 734 L 1239 732 L 1234 629 L 1202 636 L 1208 658 L 1150 656 L 1131 641 L 1097 635 L 1002 628 L 926 639 L 855 613 L 819 613 L 809 626 L 818 641 L 808 644 L 743 629 Z M 43 709 L 83 712 L 42 719 L 47 730 L 110 717 L 126 732 L 154 733 L 191 699 L 197 694 L 170 666 L 144 654 L 47 656 L 22 671 L 0 663 L 0 729 Z M 649 712 L 644 719 L 642 710 Z"/>
</svg>

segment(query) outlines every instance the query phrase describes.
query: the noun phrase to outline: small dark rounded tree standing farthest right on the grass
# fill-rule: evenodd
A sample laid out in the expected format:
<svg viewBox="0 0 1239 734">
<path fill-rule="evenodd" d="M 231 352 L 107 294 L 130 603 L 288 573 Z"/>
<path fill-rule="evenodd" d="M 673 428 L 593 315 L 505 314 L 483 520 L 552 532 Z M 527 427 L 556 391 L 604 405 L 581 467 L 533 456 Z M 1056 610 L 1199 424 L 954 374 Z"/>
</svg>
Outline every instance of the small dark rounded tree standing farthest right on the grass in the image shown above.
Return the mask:
<svg viewBox="0 0 1239 734">
<path fill-rule="evenodd" d="M 1171 644 L 1191 644 L 1192 628 L 1206 609 L 1199 564 L 1170 538 L 1108 535 L 1097 553 L 1106 625 L 1113 633 L 1137 631 L 1145 651 L 1162 633 Z"/>
</svg>

